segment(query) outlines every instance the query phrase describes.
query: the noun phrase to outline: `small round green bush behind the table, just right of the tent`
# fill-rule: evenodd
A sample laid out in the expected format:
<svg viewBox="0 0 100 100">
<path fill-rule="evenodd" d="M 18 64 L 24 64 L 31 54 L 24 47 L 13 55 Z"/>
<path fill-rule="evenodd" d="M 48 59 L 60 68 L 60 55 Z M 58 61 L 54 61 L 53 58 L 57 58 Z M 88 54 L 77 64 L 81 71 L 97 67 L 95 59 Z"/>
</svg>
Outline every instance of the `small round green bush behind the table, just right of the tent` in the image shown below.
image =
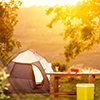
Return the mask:
<svg viewBox="0 0 100 100">
<path fill-rule="evenodd" d="M 54 71 L 56 71 L 56 67 L 59 67 L 58 68 L 59 71 L 66 71 L 66 69 L 68 68 L 68 66 L 65 65 L 62 61 L 54 61 L 54 62 L 52 62 L 52 69 Z"/>
</svg>

